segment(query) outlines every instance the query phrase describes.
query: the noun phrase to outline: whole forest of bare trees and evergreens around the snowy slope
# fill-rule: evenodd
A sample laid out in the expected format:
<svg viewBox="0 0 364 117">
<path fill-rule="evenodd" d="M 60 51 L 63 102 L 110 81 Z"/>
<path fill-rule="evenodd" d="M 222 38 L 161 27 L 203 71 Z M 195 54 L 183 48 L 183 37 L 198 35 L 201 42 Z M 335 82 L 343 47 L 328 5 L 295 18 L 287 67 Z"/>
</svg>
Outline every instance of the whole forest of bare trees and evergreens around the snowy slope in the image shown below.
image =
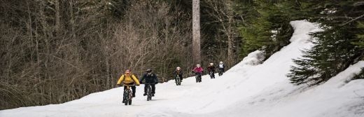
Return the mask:
<svg viewBox="0 0 364 117">
<path fill-rule="evenodd" d="M 192 60 L 191 0 L 0 0 L 0 109 L 59 104 L 116 87 L 125 69 L 160 81 Z M 288 74 L 323 83 L 363 60 L 364 1 L 201 0 L 202 67 L 265 58 L 290 43 L 292 20 L 323 32 Z M 360 76 L 361 75 L 361 76 Z M 357 78 L 363 78 L 363 74 Z"/>
</svg>

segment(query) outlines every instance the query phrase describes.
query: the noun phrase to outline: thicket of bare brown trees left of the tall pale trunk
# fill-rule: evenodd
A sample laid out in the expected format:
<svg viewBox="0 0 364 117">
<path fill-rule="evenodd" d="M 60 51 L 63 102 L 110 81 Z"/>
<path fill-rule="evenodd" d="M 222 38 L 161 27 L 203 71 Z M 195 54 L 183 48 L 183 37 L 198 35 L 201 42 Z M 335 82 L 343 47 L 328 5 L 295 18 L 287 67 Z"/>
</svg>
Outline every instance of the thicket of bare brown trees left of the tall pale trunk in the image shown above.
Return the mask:
<svg viewBox="0 0 364 117">
<path fill-rule="evenodd" d="M 190 62 L 191 24 L 165 3 L 134 1 L 122 20 L 107 0 L 0 3 L 0 109 L 114 88 L 125 69 L 151 68 L 168 81 Z"/>
</svg>

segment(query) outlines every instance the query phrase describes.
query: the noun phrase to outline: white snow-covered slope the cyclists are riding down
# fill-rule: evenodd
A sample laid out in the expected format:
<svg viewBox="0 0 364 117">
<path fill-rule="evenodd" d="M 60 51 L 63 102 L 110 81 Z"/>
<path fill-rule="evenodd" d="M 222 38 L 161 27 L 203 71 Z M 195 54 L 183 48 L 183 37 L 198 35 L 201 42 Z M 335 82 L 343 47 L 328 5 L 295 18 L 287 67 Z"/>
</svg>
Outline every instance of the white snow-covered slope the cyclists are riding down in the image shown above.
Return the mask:
<svg viewBox="0 0 364 117">
<path fill-rule="evenodd" d="M 210 79 L 186 78 L 182 85 L 174 81 L 156 85 L 152 101 L 142 96 L 137 88 L 133 104 L 121 103 L 123 88 L 87 95 L 64 104 L 31 106 L 0 111 L 1 117 L 41 116 L 252 116 L 252 117 L 363 117 L 364 80 L 346 83 L 364 67 L 358 62 L 323 85 L 307 88 L 290 84 L 292 59 L 311 48 L 309 32 L 318 32 L 315 25 L 301 20 L 293 21 L 295 32 L 290 45 L 263 60 L 255 51 L 223 76 Z"/>
</svg>

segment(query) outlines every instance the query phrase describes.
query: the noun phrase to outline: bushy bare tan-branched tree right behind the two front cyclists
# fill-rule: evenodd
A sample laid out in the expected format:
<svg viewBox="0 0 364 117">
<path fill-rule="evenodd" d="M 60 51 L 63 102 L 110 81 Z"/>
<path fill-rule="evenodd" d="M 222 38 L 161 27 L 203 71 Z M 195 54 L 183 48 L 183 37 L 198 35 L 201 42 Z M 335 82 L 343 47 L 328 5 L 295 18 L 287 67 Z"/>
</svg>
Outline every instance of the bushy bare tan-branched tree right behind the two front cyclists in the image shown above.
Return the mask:
<svg viewBox="0 0 364 117">
<path fill-rule="evenodd" d="M 123 69 L 134 69 L 139 75 L 146 69 L 154 69 L 161 81 L 168 81 L 169 75 L 177 67 L 175 64 L 187 67 L 181 63 L 189 61 L 186 58 L 190 48 L 186 46 L 190 39 L 189 28 L 188 24 L 175 24 L 174 21 L 181 14 L 179 12 L 169 11 L 167 4 L 133 4 L 126 15 L 129 20 L 116 30 L 120 50 L 115 53 L 123 53 L 120 55 L 121 60 L 125 60 Z"/>
</svg>

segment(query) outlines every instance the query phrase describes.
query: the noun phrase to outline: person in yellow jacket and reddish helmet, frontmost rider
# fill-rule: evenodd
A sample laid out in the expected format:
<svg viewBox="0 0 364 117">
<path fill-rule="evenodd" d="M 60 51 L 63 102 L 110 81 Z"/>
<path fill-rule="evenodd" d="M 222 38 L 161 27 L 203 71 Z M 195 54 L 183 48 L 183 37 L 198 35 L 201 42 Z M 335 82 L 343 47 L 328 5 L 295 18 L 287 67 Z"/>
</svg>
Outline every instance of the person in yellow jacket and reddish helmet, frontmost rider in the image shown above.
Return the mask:
<svg viewBox="0 0 364 117">
<path fill-rule="evenodd" d="M 129 69 L 127 69 L 125 71 L 125 74 L 121 75 L 119 80 L 118 80 L 118 83 L 117 85 L 121 85 L 121 83 L 124 83 L 125 85 L 133 85 L 131 86 L 132 88 L 132 93 L 133 93 L 133 97 L 135 97 L 135 92 L 137 92 L 136 88 L 135 88 L 135 85 L 140 85 L 139 83 L 139 80 L 137 78 L 137 76 L 134 76 L 134 74 L 132 74 L 130 72 Z M 135 84 L 135 85 L 134 85 Z M 127 89 L 127 86 L 124 86 L 124 90 Z"/>
</svg>

